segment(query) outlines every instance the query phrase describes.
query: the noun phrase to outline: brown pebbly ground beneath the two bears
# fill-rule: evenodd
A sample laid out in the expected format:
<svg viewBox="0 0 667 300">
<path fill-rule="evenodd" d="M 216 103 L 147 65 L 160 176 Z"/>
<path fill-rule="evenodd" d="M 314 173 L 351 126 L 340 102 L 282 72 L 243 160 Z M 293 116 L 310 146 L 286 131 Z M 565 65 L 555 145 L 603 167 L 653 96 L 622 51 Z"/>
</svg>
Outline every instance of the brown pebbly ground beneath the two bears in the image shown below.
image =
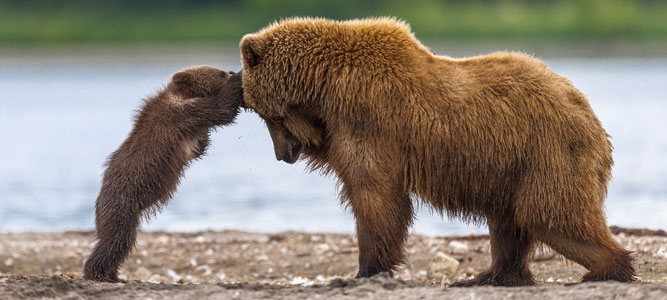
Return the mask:
<svg viewBox="0 0 667 300">
<path fill-rule="evenodd" d="M 635 251 L 635 283 L 568 285 L 585 269 L 545 248 L 531 265 L 537 287 L 448 288 L 488 266 L 488 237 L 419 235 L 410 238 L 408 263 L 395 278 L 354 280 L 353 235 L 240 231 L 141 233 L 121 271 L 128 283 L 96 283 L 81 279 L 92 232 L 2 233 L 0 299 L 666 299 L 665 232 L 612 231 Z"/>
</svg>

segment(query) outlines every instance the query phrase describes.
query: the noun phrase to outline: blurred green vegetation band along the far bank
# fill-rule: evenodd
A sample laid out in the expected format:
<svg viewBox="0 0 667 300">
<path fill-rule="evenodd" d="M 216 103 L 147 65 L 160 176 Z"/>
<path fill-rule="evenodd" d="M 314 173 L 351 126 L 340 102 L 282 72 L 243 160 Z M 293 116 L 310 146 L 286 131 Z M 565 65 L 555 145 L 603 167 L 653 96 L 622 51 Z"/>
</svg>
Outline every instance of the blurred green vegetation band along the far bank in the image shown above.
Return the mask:
<svg viewBox="0 0 667 300">
<path fill-rule="evenodd" d="M 667 40 L 665 0 L 0 0 L 0 45 L 237 42 L 290 16 L 396 16 L 424 40 Z"/>
</svg>

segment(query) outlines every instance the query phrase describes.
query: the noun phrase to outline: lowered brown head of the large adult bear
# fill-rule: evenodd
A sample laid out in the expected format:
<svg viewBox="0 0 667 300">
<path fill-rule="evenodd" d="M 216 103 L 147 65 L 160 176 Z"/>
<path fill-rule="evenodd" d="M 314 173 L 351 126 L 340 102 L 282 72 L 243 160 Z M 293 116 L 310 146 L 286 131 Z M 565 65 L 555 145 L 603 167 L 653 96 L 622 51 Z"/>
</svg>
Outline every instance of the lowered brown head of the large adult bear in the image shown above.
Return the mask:
<svg viewBox="0 0 667 300">
<path fill-rule="evenodd" d="M 311 101 L 316 95 L 309 93 L 310 79 L 296 73 L 306 71 L 299 65 L 308 64 L 310 58 L 299 57 L 303 49 L 274 47 L 280 37 L 280 32 L 264 30 L 241 40 L 243 105 L 266 122 L 276 159 L 291 164 L 302 152 L 320 150 L 326 128 Z"/>
</svg>

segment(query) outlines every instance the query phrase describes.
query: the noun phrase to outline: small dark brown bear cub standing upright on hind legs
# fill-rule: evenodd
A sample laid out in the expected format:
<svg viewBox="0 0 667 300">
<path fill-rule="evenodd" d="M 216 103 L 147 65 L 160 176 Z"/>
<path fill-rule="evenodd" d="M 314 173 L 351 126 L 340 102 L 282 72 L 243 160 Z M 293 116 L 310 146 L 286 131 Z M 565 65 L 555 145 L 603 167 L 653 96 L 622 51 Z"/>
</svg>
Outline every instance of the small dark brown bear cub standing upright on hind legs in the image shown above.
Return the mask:
<svg viewBox="0 0 667 300">
<path fill-rule="evenodd" d="M 134 128 L 107 162 L 95 203 L 98 242 L 84 277 L 118 281 L 141 216 L 165 205 L 183 170 L 208 145 L 209 130 L 233 122 L 242 101 L 241 73 L 201 66 L 174 74 L 147 99 Z"/>
</svg>

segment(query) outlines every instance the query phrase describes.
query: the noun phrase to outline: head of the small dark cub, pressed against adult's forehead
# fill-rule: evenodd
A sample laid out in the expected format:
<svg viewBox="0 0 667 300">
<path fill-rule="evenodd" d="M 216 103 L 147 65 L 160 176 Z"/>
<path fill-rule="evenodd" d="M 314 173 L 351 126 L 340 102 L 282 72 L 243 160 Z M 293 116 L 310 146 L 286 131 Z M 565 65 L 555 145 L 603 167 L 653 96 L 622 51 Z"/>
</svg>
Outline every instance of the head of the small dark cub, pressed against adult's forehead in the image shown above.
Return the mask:
<svg viewBox="0 0 667 300">
<path fill-rule="evenodd" d="M 175 73 L 167 89 L 184 99 L 220 95 L 235 75 L 210 66 L 188 68 Z M 240 78 L 237 78 L 240 81 Z"/>
</svg>

